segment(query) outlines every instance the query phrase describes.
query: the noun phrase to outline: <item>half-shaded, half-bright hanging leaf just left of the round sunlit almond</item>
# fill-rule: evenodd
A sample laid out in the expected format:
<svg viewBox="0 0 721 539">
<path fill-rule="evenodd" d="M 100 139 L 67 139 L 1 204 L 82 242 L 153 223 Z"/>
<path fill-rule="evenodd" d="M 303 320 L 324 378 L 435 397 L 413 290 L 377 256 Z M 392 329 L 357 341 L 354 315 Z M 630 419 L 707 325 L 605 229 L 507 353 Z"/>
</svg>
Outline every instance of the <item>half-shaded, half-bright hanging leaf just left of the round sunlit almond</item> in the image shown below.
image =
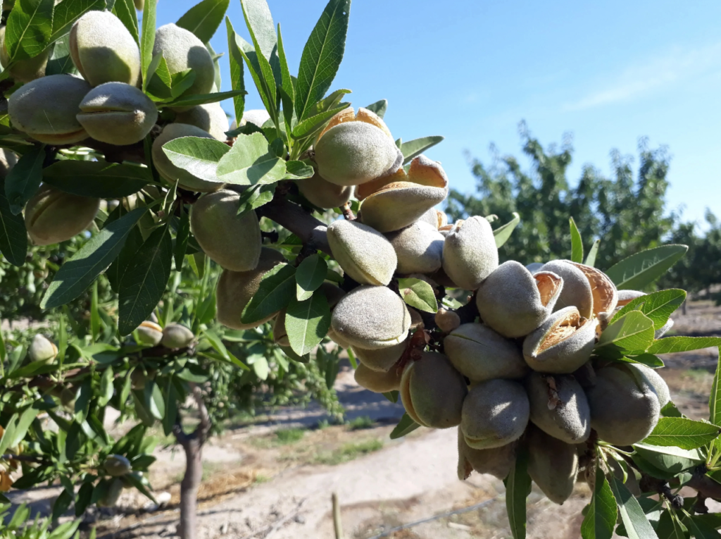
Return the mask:
<svg viewBox="0 0 721 539">
<path fill-rule="evenodd" d="M 309 354 L 327 335 L 329 328 L 330 307 L 323 292 L 316 292 L 304 301 L 291 299 L 286 311 L 286 332 L 296 354 Z"/>
</svg>

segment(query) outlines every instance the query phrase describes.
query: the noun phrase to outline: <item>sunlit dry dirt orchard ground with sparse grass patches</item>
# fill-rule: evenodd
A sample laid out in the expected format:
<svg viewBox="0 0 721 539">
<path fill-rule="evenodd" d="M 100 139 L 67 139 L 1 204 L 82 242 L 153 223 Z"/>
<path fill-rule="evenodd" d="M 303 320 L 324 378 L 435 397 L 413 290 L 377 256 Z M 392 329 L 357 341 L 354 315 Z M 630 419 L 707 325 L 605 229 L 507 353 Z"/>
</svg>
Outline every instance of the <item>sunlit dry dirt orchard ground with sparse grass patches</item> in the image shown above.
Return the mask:
<svg viewBox="0 0 721 539">
<path fill-rule="evenodd" d="M 674 316 L 679 335 L 721 336 L 721 310 L 707 302 Z M 661 369 L 678 408 L 707 417 L 715 349 L 673 354 Z M 345 539 L 507 538 L 503 483 L 474 474 L 456 477 L 456 430 L 419 429 L 404 439 L 389 433 L 402 416 L 400 404 L 355 384 L 342 370 L 336 390 L 349 424 L 327 426 L 317 406 L 288 408 L 268 421 L 229 429 L 203 454 L 199 494 L 200 539 L 326 539 L 332 528 L 331 495 L 340 501 Z M 126 491 L 120 509 L 91 514 L 99 538 L 172 538 L 175 535 L 182 452 L 162 449 L 152 468 L 157 493 L 169 493 L 162 509 Z M 30 493 L 40 509 L 53 488 Z M 588 488 L 556 506 L 535 487 L 529 497 L 528 537 L 580 537 Z M 15 495 L 15 501 L 28 499 Z M 403 525 L 410 525 L 395 530 Z"/>
</svg>

